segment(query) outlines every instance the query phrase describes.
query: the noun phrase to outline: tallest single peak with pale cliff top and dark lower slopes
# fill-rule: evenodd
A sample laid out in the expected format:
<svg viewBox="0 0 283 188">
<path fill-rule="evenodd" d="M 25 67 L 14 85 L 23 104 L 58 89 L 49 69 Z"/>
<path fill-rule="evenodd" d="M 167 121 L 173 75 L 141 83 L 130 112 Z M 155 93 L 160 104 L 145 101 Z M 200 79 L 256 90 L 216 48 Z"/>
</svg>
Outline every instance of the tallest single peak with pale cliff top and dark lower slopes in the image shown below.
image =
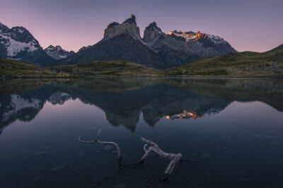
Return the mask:
<svg viewBox="0 0 283 188">
<path fill-rule="evenodd" d="M 82 64 L 88 61 L 127 60 L 153 68 L 166 68 L 163 57 L 150 49 L 139 35 L 135 16 L 125 22 L 110 23 L 104 30 L 104 37 L 96 45 L 79 50 L 62 59 L 62 64 Z"/>
</svg>

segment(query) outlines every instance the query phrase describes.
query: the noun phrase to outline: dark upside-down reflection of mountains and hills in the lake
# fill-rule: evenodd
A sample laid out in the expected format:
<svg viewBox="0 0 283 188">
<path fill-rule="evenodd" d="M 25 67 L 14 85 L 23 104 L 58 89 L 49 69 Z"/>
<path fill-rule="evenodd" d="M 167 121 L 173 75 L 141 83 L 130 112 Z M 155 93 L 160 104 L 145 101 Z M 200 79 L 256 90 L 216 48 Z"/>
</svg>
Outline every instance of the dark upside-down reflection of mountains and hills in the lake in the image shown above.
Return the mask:
<svg viewBox="0 0 283 188">
<path fill-rule="evenodd" d="M 95 78 L 75 81 L 1 81 L 0 134 L 17 119 L 32 120 L 48 101 L 96 105 L 113 126 L 134 131 L 140 114 L 154 127 L 159 119 L 197 119 L 231 102 L 261 101 L 283 111 L 283 83 L 256 79 Z"/>
</svg>

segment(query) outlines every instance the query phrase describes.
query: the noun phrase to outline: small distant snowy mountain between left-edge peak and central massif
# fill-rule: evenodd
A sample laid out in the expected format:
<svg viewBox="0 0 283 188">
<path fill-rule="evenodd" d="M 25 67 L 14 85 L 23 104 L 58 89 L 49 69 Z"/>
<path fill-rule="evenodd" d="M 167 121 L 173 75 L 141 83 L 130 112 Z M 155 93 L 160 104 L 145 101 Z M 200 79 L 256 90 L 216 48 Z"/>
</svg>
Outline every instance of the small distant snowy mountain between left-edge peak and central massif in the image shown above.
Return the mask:
<svg viewBox="0 0 283 188">
<path fill-rule="evenodd" d="M 62 49 L 60 46 L 52 46 L 50 45 L 49 47 L 45 48 L 44 51 L 53 59 L 64 59 L 66 57 L 71 56 L 72 54 L 75 54 L 74 51 L 68 52 L 65 49 Z"/>
</svg>

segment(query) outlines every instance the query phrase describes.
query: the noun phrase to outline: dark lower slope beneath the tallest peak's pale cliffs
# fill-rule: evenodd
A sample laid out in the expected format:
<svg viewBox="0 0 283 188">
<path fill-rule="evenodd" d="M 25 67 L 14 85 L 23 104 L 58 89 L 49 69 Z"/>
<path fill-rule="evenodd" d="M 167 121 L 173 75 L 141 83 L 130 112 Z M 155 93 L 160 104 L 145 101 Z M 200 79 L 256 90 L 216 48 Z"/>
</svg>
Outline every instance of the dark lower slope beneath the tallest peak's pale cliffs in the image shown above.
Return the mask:
<svg viewBox="0 0 283 188">
<path fill-rule="evenodd" d="M 64 64 L 81 64 L 88 61 L 127 60 L 152 68 L 166 68 L 162 58 L 154 51 L 134 40 L 132 35 L 122 34 L 74 54 L 64 60 Z"/>
</svg>

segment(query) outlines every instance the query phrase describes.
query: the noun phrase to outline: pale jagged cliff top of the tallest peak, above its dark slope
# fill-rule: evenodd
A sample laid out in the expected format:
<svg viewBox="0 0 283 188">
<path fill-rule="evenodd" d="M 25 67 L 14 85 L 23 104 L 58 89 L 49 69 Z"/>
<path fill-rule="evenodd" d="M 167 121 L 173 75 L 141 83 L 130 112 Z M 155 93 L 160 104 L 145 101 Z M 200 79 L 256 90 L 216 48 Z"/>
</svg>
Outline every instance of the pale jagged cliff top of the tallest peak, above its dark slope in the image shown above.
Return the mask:
<svg viewBox="0 0 283 188">
<path fill-rule="evenodd" d="M 141 40 L 139 34 L 139 27 L 136 23 L 136 17 L 132 14 L 130 18 L 119 24 L 117 22 L 110 23 L 104 30 L 103 40 L 109 40 L 117 35 L 128 34 L 131 35 L 134 40 Z"/>
</svg>

